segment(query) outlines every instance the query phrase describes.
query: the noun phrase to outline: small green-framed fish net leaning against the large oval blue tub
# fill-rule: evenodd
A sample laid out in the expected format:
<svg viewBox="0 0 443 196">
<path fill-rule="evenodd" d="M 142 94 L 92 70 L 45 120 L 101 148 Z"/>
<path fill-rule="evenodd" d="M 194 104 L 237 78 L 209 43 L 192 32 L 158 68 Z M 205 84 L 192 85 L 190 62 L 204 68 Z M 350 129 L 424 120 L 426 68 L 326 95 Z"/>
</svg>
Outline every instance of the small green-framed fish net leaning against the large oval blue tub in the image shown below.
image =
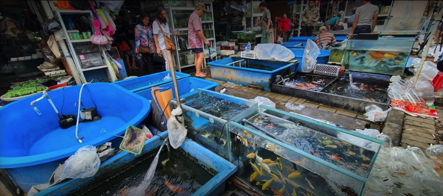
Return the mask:
<svg viewBox="0 0 443 196">
<path fill-rule="evenodd" d="M 128 126 L 126 128 L 125 136 L 122 143 L 120 143 L 120 149 L 139 155 L 142 153 L 143 146 L 145 146 L 146 131 L 139 129 L 135 126 Z"/>
</svg>

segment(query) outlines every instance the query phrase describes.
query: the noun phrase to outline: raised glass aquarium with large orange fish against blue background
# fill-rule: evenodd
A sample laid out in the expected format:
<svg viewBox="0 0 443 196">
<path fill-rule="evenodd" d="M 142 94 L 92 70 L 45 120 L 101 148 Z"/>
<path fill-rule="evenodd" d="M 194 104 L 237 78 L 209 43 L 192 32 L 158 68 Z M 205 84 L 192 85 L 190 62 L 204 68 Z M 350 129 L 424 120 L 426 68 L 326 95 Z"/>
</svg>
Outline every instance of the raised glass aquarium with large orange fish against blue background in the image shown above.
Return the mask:
<svg viewBox="0 0 443 196">
<path fill-rule="evenodd" d="M 349 71 L 403 75 L 415 38 L 348 40 L 343 65 Z"/>
</svg>

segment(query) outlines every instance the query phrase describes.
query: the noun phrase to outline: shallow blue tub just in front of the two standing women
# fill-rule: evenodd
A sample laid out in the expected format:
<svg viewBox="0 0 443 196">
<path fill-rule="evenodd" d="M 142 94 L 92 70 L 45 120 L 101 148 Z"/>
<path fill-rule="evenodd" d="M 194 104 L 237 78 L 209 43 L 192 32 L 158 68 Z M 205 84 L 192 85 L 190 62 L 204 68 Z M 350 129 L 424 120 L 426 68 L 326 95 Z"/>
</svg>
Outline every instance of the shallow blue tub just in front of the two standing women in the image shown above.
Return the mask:
<svg viewBox="0 0 443 196">
<path fill-rule="evenodd" d="M 160 84 L 172 82 L 172 79 L 162 80 L 168 74 L 169 74 L 169 76 L 171 76 L 171 71 L 164 71 L 164 72 L 159 72 L 159 73 L 155 73 L 155 74 L 150 74 L 147 76 L 130 78 L 127 80 L 120 80 L 120 81 L 116 81 L 114 83 L 122 86 L 123 88 L 125 88 L 131 92 L 138 92 L 138 91 L 142 91 L 145 89 L 149 89 L 152 86 L 158 86 Z M 182 79 L 182 78 L 186 78 L 186 77 L 190 77 L 190 76 L 191 75 L 189 75 L 189 74 L 175 72 L 175 78 L 177 80 Z"/>
</svg>

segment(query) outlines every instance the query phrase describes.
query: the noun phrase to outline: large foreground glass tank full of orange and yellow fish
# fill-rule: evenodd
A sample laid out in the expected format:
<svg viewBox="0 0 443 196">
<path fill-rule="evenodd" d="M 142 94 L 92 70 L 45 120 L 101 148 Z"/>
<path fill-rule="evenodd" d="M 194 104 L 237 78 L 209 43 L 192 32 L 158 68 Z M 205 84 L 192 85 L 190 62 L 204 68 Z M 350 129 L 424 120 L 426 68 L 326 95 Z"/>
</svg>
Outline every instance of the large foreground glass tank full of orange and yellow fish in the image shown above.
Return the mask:
<svg viewBox="0 0 443 196">
<path fill-rule="evenodd" d="M 229 122 L 236 175 L 264 195 L 361 195 L 382 141 L 266 106 Z M 286 193 L 288 192 L 288 193 Z"/>
</svg>

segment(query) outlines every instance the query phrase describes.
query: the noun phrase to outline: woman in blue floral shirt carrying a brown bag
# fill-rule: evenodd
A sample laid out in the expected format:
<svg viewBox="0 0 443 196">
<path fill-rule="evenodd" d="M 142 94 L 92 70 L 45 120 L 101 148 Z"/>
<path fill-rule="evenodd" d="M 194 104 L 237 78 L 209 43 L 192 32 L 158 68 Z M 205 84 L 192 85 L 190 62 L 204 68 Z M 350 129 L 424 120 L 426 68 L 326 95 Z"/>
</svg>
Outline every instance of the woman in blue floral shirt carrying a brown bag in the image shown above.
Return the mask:
<svg viewBox="0 0 443 196">
<path fill-rule="evenodd" d="M 135 53 L 140 53 L 146 59 L 148 74 L 153 74 L 152 57 L 155 52 L 155 42 L 152 29 L 149 26 L 149 15 L 143 13 L 140 15 L 141 23 L 135 26 Z"/>
</svg>

